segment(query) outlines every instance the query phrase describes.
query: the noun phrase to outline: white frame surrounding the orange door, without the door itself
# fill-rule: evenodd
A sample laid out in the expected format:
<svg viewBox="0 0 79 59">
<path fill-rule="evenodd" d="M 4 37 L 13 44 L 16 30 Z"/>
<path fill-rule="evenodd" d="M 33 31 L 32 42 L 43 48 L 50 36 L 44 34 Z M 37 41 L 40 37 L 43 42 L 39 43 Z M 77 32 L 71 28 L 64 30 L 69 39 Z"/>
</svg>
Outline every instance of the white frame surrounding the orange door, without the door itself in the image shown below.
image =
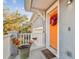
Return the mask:
<svg viewBox="0 0 79 59">
<path fill-rule="evenodd" d="M 58 42 L 57 42 L 57 51 L 55 49 L 52 49 L 50 47 L 50 28 L 49 28 L 49 16 L 48 13 L 54 9 L 55 7 L 58 7 Z M 59 58 L 59 1 L 56 1 L 47 11 L 46 11 L 46 48 L 48 48 L 53 54 L 55 54 L 57 56 L 57 58 Z"/>
</svg>

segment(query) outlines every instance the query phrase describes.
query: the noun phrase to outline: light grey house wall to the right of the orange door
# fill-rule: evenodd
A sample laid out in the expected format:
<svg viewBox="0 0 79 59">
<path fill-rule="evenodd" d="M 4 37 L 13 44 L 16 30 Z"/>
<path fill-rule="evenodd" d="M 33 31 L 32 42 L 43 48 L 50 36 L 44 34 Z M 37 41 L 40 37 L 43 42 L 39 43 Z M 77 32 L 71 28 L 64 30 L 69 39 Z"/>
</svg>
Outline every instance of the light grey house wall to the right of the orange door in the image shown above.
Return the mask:
<svg viewBox="0 0 79 59">
<path fill-rule="evenodd" d="M 59 3 L 59 59 L 75 59 L 75 1 Z"/>
</svg>

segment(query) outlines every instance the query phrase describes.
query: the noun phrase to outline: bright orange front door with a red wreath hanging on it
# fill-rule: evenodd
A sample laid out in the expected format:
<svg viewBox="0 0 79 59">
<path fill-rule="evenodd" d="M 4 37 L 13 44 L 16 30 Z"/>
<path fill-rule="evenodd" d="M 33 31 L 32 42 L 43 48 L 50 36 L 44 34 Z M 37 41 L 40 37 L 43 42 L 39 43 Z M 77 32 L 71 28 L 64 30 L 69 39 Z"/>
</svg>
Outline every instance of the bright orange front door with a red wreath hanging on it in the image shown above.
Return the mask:
<svg viewBox="0 0 79 59">
<path fill-rule="evenodd" d="M 49 13 L 50 17 L 50 47 L 57 49 L 57 8 Z"/>
</svg>

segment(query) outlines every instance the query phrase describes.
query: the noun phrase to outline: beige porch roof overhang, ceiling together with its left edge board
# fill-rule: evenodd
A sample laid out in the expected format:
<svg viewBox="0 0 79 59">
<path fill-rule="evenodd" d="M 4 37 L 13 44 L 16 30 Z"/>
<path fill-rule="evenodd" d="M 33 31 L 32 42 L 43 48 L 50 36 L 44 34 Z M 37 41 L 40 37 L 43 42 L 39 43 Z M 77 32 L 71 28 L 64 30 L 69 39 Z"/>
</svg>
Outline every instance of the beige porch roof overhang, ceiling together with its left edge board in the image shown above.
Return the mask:
<svg viewBox="0 0 79 59">
<path fill-rule="evenodd" d="M 38 9 L 38 10 L 47 10 L 52 3 L 56 0 L 26 0 L 25 1 L 25 9 Z"/>
</svg>

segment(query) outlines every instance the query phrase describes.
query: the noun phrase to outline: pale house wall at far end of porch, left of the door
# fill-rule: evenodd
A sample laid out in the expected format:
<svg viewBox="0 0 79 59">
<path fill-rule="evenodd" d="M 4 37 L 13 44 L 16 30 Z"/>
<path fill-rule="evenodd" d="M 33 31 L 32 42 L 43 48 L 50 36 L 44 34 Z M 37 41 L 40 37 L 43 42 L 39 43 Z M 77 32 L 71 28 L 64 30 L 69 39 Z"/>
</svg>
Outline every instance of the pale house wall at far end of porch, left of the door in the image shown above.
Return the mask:
<svg viewBox="0 0 79 59">
<path fill-rule="evenodd" d="M 35 31 L 34 29 L 42 27 L 45 30 L 45 21 L 42 17 L 38 16 L 37 19 L 32 23 L 32 37 L 37 37 L 37 40 L 31 46 L 31 50 L 45 47 L 45 33 L 43 30 Z"/>
</svg>

